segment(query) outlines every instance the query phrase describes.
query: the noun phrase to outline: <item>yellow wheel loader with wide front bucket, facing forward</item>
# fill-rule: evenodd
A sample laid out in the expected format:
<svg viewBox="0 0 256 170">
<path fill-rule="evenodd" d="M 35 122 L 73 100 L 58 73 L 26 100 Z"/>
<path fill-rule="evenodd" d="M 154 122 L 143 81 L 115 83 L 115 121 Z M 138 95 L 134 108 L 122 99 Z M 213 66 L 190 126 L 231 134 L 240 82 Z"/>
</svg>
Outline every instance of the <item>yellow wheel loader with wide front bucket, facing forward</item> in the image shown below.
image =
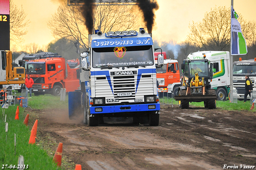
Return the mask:
<svg viewBox="0 0 256 170">
<path fill-rule="evenodd" d="M 216 92 L 212 89 L 212 64 L 207 59 L 183 60 L 181 65 L 182 82 L 178 88 L 179 107 L 189 108 L 189 102 L 204 102 L 204 107 L 216 108 Z"/>
</svg>

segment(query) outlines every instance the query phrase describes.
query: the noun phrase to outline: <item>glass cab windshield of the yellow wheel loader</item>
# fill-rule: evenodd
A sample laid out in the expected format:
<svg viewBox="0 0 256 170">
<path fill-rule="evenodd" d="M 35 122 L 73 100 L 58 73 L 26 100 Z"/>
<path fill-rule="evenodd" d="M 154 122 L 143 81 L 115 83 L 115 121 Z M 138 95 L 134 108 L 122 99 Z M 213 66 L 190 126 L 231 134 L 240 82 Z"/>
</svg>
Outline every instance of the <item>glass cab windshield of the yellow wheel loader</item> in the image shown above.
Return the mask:
<svg viewBox="0 0 256 170">
<path fill-rule="evenodd" d="M 186 63 L 184 75 L 187 77 L 194 77 L 195 74 L 198 73 L 198 76 L 208 77 L 208 62 L 205 61 L 206 60 L 192 60 L 191 62 Z"/>
</svg>

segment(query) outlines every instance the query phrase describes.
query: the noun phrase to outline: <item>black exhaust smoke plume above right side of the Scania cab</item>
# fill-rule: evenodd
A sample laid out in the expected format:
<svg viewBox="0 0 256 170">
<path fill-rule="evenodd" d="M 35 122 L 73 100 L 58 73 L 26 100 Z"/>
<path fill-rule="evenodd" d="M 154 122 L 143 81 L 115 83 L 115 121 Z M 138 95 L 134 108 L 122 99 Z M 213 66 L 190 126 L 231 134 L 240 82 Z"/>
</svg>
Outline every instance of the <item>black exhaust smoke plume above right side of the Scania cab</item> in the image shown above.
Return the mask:
<svg viewBox="0 0 256 170">
<path fill-rule="evenodd" d="M 154 10 L 158 10 L 159 6 L 156 2 L 150 2 L 150 0 L 137 0 L 138 6 L 143 12 L 144 21 L 149 33 L 152 33 L 152 27 L 154 24 Z"/>
</svg>

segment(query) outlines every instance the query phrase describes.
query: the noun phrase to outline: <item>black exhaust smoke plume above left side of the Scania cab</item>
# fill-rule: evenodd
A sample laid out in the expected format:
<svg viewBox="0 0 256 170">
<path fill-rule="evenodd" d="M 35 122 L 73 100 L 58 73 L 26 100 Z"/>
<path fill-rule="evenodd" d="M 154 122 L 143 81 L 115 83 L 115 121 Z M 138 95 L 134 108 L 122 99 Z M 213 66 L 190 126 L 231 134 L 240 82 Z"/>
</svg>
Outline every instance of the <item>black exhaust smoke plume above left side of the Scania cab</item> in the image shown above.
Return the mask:
<svg viewBox="0 0 256 170">
<path fill-rule="evenodd" d="M 92 34 L 93 30 L 93 6 L 94 0 L 82 0 L 84 5 L 81 7 L 82 14 L 85 19 L 85 25 L 88 29 L 88 33 Z"/>
</svg>

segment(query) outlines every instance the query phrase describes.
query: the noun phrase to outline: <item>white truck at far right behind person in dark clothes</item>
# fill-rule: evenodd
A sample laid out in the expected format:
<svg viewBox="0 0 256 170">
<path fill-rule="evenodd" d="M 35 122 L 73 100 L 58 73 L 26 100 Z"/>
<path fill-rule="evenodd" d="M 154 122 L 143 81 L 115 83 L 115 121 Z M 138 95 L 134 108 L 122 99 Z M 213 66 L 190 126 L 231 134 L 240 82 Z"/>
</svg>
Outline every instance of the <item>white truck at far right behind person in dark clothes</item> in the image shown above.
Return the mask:
<svg viewBox="0 0 256 170">
<path fill-rule="evenodd" d="M 245 75 L 249 75 L 252 81 L 253 90 L 256 90 L 255 80 L 256 80 L 256 58 L 249 60 L 242 60 L 233 62 L 233 87 L 237 90 L 238 100 L 244 99 L 245 91 Z M 249 95 L 247 99 L 249 99 Z"/>
</svg>

